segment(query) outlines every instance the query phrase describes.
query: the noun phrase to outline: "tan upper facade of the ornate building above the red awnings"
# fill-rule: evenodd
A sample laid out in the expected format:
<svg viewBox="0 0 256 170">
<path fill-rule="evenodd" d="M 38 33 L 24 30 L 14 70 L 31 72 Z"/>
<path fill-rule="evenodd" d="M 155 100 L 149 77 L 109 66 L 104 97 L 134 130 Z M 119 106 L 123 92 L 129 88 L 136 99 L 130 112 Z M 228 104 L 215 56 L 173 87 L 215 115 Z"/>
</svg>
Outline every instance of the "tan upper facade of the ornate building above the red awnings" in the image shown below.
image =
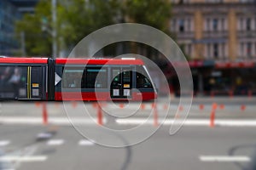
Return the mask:
<svg viewBox="0 0 256 170">
<path fill-rule="evenodd" d="M 173 3 L 170 29 L 190 59 L 256 59 L 256 2 L 174 0 Z"/>
</svg>

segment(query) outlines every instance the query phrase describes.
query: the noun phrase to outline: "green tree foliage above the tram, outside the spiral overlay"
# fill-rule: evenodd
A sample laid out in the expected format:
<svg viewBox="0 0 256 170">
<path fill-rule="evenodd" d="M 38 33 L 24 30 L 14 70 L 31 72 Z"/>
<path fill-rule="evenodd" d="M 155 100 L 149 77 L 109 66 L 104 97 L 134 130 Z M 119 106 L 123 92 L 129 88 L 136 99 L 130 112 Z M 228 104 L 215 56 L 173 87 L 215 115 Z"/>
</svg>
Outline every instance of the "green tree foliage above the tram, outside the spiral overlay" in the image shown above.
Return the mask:
<svg viewBox="0 0 256 170">
<path fill-rule="evenodd" d="M 17 33 L 25 32 L 26 54 L 51 55 L 53 26 L 56 26 L 58 32 L 59 51 L 73 48 L 92 31 L 120 22 L 146 24 L 169 34 L 171 4 L 168 0 L 57 1 L 55 25 L 51 20 L 49 0 L 41 0 L 35 9 L 35 14 L 26 14 L 17 22 Z"/>
</svg>

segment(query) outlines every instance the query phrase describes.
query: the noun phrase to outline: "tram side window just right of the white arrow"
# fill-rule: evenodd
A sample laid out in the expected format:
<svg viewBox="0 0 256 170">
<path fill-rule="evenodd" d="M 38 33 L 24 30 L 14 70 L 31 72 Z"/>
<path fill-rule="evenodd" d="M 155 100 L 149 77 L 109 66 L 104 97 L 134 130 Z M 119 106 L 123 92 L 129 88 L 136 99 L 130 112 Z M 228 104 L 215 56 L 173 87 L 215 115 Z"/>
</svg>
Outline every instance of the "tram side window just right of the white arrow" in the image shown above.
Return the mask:
<svg viewBox="0 0 256 170">
<path fill-rule="evenodd" d="M 84 88 L 84 69 L 65 68 L 62 76 L 62 88 Z"/>
</svg>

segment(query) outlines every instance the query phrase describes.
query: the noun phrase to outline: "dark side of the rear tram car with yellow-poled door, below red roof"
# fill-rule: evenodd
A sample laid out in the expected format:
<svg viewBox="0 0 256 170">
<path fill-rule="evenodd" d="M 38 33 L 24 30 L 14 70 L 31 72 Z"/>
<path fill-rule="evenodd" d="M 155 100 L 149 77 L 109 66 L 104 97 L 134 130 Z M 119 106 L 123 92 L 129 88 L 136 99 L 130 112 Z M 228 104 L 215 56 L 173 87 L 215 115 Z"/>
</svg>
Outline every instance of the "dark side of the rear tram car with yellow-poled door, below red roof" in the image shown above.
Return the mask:
<svg viewBox="0 0 256 170">
<path fill-rule="evenodd" d="M 0 64 L 0 99 L 46 99 L 46 65 Z"/>
</svg>

